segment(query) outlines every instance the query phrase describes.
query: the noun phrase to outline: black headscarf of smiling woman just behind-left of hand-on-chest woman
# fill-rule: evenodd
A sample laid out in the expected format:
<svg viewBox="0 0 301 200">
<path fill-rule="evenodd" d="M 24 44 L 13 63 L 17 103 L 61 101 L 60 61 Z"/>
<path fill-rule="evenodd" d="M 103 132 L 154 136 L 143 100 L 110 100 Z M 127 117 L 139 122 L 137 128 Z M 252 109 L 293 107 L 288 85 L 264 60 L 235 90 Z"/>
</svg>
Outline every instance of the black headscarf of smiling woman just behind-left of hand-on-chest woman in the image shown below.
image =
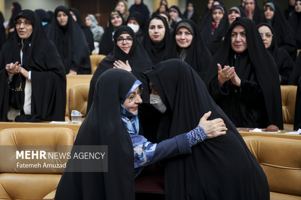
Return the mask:
<svg viewBox="0 0 301 200">
<path fill-rule="evenodd" d="M 110 18 L 109 18 L 109 27 L 107 27 L 101 37 L 100 40 L 100 50 L 98 54 L 102 54 L 102 55 L 108 55 L 109 53 L 111 53 L 113 51 L 113 47 L 114 47 L 114 41 L 113 41 L 113 35 L 115 33 L 115 30 L 118 27 L 114 27 L 112 22 L 111 22 L 111 16 L 112 15 L 119 15 L 122 18 L 122 25 L 124 25 L 124 19 L 121 15 L 121 13 L 119 11 L 112 11 L 110 13 Z"/>
</svg>

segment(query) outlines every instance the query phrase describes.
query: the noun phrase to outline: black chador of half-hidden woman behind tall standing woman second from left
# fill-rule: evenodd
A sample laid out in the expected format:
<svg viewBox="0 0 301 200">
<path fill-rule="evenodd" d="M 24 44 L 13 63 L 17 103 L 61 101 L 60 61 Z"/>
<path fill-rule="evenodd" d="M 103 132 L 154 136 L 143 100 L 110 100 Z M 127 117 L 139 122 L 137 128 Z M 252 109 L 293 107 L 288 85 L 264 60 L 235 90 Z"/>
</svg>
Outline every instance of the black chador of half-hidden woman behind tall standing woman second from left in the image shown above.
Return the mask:
<svg viewBox="0 0 301 200">
<path fill-rule="evenodd" d="M 94 39 L 90 27 L 82 23 L 82 16 L 79 10 L 77 10 L 76 8 L 70 8 L 69 10 L 72 11 L 73 14 L 76 16 L 76 23 L 82 28 L 90 52 L 92 52 L 94 50 Z"/>
</svg>

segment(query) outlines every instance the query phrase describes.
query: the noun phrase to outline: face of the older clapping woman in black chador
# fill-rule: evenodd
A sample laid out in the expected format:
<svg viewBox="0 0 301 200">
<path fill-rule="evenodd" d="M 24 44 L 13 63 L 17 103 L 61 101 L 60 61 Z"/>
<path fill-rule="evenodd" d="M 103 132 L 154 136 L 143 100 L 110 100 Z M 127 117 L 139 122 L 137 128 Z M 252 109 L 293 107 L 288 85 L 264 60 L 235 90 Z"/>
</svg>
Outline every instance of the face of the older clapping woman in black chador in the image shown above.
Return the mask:
<svg viewBox="0 0 301 200">
<path fill-rule="evenodd" d="M 247 48 L 246 29 L 241 25 L 236 25 L 231 31 L 231 47 L 236 53 L 242 53 Z"/>
</svg>

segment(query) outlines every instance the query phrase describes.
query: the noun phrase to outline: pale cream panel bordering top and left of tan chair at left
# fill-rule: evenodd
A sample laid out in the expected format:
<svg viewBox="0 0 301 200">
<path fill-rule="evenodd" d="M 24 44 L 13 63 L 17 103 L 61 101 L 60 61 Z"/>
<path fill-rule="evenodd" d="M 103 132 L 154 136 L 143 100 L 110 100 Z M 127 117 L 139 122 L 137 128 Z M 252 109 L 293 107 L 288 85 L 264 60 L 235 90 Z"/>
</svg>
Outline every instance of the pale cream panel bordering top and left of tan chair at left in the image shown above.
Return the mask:
<svg viewBox="0 0 301 200">
<path fill-rule="evenodd" d="M 69 89 L 71 86 L 73 85 L 77 85 L 77 84 L 90 84 L 90 81 L 93 77 L 93 75 L 76 75 L 76 76 L 72 76 L 72 75 L 67 75 L 67 88 L 66 88 L 66 94 L 67 94 L 67 98 L 66 98 L 66 115 L 65 116 L 69 116 L 69 106 L 68 106 L 68 102 L 69 102 Z"/>
</svg>

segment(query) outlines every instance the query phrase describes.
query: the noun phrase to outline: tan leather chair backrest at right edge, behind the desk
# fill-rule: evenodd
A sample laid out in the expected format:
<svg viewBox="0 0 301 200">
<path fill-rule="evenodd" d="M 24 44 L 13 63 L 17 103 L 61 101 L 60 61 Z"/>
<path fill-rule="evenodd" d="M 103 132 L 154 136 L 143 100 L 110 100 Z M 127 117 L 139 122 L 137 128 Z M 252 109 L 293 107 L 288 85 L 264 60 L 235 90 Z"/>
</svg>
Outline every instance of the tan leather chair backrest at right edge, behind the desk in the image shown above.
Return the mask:
<svg viewBox="0 0 301 200">
<path fill-rule="evenodd" d="M 295 85 L 281 86 L 283 123 L 294 124 L 296 94 L 297 94 L 297 86 Z"/>
</svg>

